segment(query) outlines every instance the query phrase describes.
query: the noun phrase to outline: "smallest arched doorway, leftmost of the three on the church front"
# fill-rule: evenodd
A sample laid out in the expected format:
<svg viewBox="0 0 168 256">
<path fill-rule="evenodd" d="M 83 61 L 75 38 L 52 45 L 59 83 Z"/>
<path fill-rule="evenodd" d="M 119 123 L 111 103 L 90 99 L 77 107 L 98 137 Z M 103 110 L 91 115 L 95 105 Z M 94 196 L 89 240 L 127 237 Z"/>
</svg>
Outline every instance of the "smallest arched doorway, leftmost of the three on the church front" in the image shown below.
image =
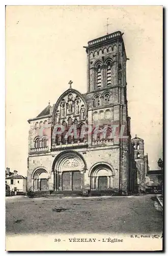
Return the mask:
<svg viewBox="0 0 168 256">
<path fill-rule="evenodd" d="M 43 168 L 38 168 L 32 175 L 33 191 L 47 191 L 48 190 L 48 173 Z"/>
</svg>

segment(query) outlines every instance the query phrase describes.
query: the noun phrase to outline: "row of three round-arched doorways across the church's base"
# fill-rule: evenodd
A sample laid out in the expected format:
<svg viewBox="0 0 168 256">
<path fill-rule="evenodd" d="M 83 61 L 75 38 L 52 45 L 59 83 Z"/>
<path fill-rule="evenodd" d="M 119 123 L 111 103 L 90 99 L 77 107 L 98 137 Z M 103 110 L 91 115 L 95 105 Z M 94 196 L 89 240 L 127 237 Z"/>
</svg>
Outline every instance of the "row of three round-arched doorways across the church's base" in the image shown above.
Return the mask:
<svg viewBox="0 0 168 256">
<path fill-rule="evenodd" d="M 100 162 L 89 171 L 85 160 L 78 153 L 59 154 L 53 161 L 53 190 L 82 190 L 85 188 L 85 175 L 89 176 L 91 190 L 113 188 L 115 171 L 108 163 Z M 32 175 L 33 190 L 48 190 L 49 175 L 44 168 L 38 168 Z"/>
</svg>

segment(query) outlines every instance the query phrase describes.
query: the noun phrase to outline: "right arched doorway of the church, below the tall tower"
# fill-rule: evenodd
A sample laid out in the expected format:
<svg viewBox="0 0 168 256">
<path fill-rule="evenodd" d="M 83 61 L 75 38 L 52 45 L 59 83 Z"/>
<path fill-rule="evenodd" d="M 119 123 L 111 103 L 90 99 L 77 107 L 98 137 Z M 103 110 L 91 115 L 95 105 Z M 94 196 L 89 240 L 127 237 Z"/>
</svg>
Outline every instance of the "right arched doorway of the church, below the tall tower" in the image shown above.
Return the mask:
<svg viewBox="0 0 168 256">
<path fill-rule="evenodd" d="M 113 188 L 114 168 L 108 163 L 97 163 L 90 170 L 91 189 L 107 190 Z"/>
</svg>

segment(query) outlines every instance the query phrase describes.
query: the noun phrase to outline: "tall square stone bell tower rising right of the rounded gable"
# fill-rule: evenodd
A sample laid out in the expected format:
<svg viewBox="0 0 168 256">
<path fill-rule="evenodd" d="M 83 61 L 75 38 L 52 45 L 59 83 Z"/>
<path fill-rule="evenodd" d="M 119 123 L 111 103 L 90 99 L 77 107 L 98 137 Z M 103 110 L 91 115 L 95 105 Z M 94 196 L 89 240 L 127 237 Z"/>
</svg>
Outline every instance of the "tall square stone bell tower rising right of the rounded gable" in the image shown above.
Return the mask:
<svg viewBox="0 0 168 256">
<path fill-rule="evenodd" d="M 116 161 L 119 166 L 119 189 L 130 190 L 130 118 L 128 117 L 126 95 L 126 51 L 120 31 L 104 35 L 88 42 L 87 52 L 87 107 L 88 124 L 98 127 L 107 126 L 106 137 L 101 131 L 97 137 L 89 139 L 89 147 L 107 145 L 111 150 L 111 161 L 118 152 Z M 113 139 L 113 127 L 117 125 L 117 139 Z M 119 137 L 121 128 L 127 139 Z M 112 139 L 109 139 L 112 138 Z M 114 154 L 113 154 L 114 152 Z"/>
</svg>

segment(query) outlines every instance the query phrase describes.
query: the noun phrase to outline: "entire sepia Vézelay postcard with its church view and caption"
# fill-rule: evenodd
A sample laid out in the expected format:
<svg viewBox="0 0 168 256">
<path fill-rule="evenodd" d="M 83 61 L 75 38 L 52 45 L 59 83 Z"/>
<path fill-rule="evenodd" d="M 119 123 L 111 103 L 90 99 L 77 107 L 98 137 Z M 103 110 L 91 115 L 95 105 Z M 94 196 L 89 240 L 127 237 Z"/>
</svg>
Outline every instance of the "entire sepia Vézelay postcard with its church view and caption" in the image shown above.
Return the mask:
<svg viewBox="0 0 168 256">
<path fill-rule="evenodd" d="M 7 251 L 162 251 L 162 33 L 162 6 L 6 6 Z"/>
</svg>

